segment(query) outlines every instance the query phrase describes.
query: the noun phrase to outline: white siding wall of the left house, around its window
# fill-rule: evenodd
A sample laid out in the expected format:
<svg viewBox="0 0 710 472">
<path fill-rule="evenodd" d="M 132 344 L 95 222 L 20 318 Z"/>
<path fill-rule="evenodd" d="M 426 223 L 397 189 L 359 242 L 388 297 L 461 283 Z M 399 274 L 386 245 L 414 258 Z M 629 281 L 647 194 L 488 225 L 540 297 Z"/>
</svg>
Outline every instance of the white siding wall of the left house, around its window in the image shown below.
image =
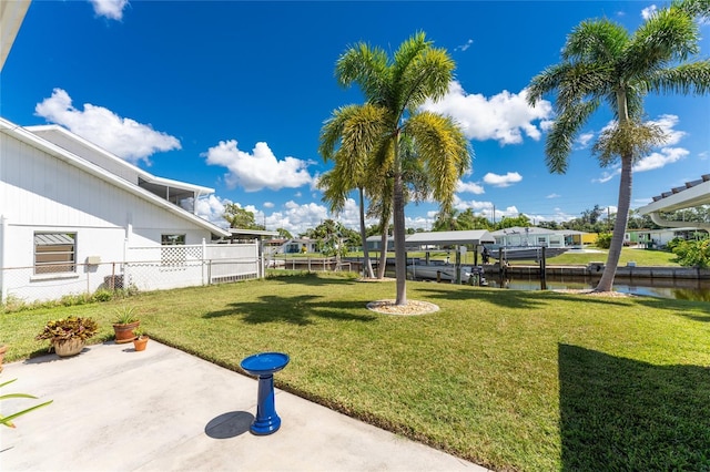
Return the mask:
<svg viewBox="0 0 710 472">
<path fill-rule="evenodd" d="M 26 301 L 93 293 L 115 275 L 128 246 L 160 246 L 161 234 L 186 244 L 207 228 L 7 134 L 0 134 L 0 296 Z M 75 233 L 75 273 L 34 275 L 36 232 Z M 128 240 L 126 240 L 128 238 Z M 88 257 L 101 264 L 83 265 Z"/>
</svg>

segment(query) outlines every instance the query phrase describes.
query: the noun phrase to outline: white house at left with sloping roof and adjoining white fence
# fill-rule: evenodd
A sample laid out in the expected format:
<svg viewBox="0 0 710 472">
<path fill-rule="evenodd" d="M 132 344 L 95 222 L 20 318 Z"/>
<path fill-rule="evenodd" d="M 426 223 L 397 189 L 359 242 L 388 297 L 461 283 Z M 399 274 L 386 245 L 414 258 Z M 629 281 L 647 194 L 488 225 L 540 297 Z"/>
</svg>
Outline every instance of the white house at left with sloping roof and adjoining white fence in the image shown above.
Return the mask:
<svg viewBox="0 0 710 472">
<path fill-rule="evenodd" d="M 211 188 L 156 177 L 57 125 L 0 119 L 0 156 L 3 301 L 260 274 L 256 243 L 210 244 L 231 235 L 193 213 Z"/>
</svg>

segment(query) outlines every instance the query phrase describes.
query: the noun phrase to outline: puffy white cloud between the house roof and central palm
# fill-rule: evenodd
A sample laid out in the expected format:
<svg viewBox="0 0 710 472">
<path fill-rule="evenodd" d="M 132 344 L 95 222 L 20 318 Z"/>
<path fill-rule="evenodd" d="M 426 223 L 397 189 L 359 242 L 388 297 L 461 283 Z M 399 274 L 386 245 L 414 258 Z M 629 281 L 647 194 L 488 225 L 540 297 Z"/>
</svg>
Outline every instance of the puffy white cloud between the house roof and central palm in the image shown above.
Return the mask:
<svg viewBox="0 0 710 472">
<path fill-rule="evenodd" d="M 256 143 L 251 153 L 240 151 L 235 140 L 220 141 L 206 153 L 207 164 L 221 165 L 230 172 L 225 182 L 231 188 L 237 185 L 246 192 L 262 188 L 278 191 L 284 187 L 295 188 L 307 185 L 313 177 L 306 167 L 308 162 L 285 157 L 278 161 L 266 143 Z"/>
</svg>

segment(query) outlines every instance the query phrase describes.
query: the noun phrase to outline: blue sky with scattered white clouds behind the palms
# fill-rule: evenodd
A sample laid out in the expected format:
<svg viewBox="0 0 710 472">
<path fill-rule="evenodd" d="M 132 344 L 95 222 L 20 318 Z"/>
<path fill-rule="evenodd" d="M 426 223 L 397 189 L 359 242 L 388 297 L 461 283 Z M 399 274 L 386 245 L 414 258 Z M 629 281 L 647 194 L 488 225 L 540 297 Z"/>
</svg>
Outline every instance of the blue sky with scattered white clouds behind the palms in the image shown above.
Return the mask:
<svg viewBox="0 0 710 472">
<path fill-rule="evenodd" d="M 632 32 L 666 4 L 34 0 L 0 75 L 0 115 L 63 125 L 158 176 L 212 187 L 200 213 L 216 223 L 236 203 L 268 229 L 295 234 L 328 217 L 356 228 L 356 202 L 332 215 L 315 187 L 331 166 L 317 153 L 323 122 L 362 103 L 335 82 L 335 62 L 358 41 L 395 51 L 425 31 L 457 64 L 448 95 L 430 107 L 462 123 L 475 151 L 457 208 L 565 220 L 616 208 L 618 168 L 590 154 L 611 115 L 598 112 L 567 174 L 550 174 L 551 104 L 528 107 L 525 88 L 559 62 L 580 21 L 606 17 Z M 710 24 L 701 33 L 707 58 Z M 649 95 L 646 112 L 670 140 L 637 165 L 633 208 L 710 173 L 710 96 Z M 428 228 L 436 212 L 408 205 L 407 226 Z"/>
</svg>

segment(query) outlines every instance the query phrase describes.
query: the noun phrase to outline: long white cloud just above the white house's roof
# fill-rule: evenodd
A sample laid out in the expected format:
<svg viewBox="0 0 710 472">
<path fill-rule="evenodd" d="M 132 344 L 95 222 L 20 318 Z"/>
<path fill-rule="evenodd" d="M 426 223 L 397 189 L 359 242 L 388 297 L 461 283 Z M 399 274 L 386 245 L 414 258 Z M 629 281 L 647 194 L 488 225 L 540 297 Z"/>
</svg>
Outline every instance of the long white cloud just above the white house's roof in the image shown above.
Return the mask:
<svg viewBox="0 0 710 472">
<path fill-rule="evenodd" d="M 87 141 L 132 163 L 144 161 L 156 152 L 180 150 L 180 141 L 161 133 L 150 124 L 122 119 L 103 106 L 84 103 L 84 110 L 72 106 L 71 96 L 62 89 L 54 89 L 52 96 L 34 107 L 38 116 L 60 124 Z"/>
</svg>

